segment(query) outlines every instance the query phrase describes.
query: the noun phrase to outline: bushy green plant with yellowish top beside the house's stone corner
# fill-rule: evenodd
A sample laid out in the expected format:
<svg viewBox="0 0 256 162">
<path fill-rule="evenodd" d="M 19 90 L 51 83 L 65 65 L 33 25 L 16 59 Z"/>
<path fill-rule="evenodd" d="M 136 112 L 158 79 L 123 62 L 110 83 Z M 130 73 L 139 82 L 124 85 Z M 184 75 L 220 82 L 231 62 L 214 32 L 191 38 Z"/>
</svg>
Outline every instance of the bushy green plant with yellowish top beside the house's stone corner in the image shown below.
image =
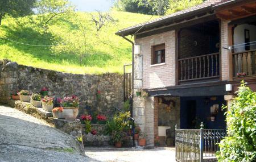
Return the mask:
<svg viewBox="0 0 256 162">
<path fill-rule="evenodd" d="M 130 115 L 130 111 L 120 112 L 106 122 L 105 134 L 111 136 L 110 144 L 121 141 L 124 136 L 123 131 L 130 126 Z"/>
</svg>

